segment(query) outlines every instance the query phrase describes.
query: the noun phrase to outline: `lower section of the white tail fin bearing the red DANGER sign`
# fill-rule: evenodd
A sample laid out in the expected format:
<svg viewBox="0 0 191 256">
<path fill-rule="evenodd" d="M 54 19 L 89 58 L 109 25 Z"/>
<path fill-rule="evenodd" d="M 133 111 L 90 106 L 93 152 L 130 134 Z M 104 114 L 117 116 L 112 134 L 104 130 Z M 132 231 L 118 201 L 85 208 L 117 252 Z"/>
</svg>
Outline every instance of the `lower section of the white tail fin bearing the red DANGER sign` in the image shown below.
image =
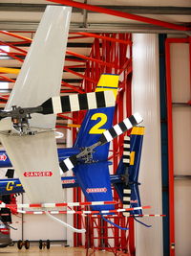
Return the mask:
<svg viewBox="0 0 191 256">
<path fill-rule="evenodd" d="M 1 134 L 0 138 L 30 202 L 62 202 L 54 132 L 25 136 Z"/>
</svg>

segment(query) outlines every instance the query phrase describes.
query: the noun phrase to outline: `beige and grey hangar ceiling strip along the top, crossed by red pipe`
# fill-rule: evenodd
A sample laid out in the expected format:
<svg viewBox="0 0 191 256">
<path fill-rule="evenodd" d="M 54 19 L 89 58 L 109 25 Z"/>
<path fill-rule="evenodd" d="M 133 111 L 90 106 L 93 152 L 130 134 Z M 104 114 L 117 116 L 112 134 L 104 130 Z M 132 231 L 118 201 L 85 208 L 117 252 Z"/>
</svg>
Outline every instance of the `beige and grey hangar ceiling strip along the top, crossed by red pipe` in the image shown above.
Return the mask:
<svg viewBox="0 0 191 256">
<path fill-rule="evenodd" d="M 176 24 L 187 24 L 191 21 L 191 2 L 189 0 L 173 1 L 173 6 L 172 1 L 169 0 L 79 0 L 76 2 L 104 7 L 108 10 L 134 13 Z M 35 30 L 48 4 L 55 5 L 56 3 L 44 0 L 2 0 L 0 3 L 0 30 Z M 118 30 L 120 32 L 164 31 L 161 27 L 157 28 L 151 24 L 73 8 L 71 32 L 89 31 L 100 33 L 105 32 L 106 29 L 107 32 L 118 32 Z M 167 31 L 169 30 L 167 29 Z"/>
</svg>

